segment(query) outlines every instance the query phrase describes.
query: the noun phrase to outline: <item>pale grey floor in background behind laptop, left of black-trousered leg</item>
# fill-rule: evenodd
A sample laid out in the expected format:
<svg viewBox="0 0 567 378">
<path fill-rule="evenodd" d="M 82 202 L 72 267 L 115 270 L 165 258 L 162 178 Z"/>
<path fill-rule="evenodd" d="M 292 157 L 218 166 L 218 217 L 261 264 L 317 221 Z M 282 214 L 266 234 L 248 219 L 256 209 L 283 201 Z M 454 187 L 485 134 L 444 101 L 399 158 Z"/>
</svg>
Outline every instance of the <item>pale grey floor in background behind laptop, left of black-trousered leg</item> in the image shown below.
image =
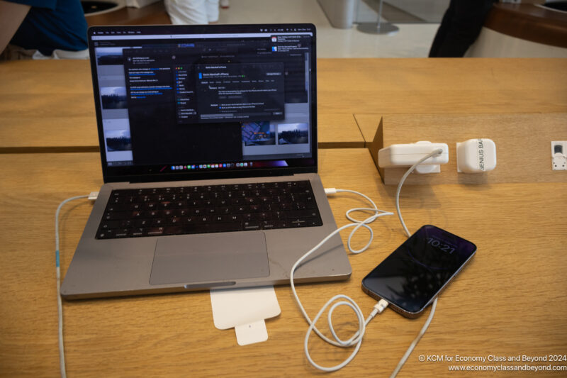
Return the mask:
<svg viewBox="0 0 567 378">
<path fill-rule="evenodd" d="M 230 8 L 221 9 L 219 21 L 313 23 L 318 57 L 427 57 L 439 27 L 437 23 L 398 23 L 400 30 L 394 35 L 361 33 L 356 26 L 332 28 L 317 0 L 230 0 Z"/>
</svg>

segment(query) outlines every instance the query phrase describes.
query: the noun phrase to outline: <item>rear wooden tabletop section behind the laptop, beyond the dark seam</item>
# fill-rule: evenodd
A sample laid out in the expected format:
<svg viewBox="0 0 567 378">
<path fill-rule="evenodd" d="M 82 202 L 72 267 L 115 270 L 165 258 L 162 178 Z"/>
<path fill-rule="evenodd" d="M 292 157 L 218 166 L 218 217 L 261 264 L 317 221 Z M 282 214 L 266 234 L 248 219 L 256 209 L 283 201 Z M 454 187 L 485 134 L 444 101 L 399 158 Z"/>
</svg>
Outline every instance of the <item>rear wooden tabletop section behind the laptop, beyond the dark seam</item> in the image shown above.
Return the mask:
<svg viewBox="0 0 567 378">
<path fill-rule="evenodd" d="M 567 59 L 320 59 L 321 148 L 364 147 L 354 114 L 567 112 Z M 0 64 L 1 152 L 98 150 L 89 63 Z"/>
</svg>

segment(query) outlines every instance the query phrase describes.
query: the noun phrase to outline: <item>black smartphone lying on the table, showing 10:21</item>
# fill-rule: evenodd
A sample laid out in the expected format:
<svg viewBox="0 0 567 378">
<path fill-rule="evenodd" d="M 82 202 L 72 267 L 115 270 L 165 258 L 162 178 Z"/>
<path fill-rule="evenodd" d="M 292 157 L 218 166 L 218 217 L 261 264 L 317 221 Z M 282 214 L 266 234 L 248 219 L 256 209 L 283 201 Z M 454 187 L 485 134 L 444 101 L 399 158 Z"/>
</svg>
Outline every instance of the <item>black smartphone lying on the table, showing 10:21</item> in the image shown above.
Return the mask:
<svg viewBox="0 0 567 378">
<path fill-rule="evenodd" d="M 420 313 L 476 252 L 476 245 L 422 226 L 362 280 L 365 291 L 408 313 Z"/>
</svg>

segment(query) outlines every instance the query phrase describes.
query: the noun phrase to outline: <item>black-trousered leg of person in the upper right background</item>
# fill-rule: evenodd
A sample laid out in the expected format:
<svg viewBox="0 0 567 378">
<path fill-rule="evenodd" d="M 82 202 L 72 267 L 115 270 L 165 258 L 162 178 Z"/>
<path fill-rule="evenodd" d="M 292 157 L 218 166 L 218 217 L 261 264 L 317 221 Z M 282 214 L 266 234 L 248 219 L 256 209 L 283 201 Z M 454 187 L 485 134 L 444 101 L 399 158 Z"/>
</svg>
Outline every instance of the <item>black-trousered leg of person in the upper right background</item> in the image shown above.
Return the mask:
<svg viewBox="0 0 567 378">
<path fill-rule="evenodd" d="M 451 0 L 433 40 L 430 57 L 463 57 L 478 38 L 497 0 Z"/>
</svg>

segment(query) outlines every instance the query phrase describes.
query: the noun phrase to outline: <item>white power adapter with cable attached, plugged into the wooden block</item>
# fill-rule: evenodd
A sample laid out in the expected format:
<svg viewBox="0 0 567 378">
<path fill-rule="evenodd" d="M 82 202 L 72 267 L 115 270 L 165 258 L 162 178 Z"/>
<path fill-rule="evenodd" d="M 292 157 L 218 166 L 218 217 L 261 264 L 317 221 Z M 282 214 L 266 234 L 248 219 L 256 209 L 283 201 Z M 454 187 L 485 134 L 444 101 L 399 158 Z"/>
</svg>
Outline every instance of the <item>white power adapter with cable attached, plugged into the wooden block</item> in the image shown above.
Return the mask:
<svg viewBox="0 0 567 378">
<path fill-rule="evenodd" d="M 415 167 L 415 171 L 417 173 L 439 173 L 441 165 L 449 162 L 449 146 L 447 143 L 431 143 L 425 140 L 381 148 L 378 151 L 378 166 L 381 168 L 411 167 L 422 157 L 438 149 L 443 152 L 422 162 Z"/>
</svg>

